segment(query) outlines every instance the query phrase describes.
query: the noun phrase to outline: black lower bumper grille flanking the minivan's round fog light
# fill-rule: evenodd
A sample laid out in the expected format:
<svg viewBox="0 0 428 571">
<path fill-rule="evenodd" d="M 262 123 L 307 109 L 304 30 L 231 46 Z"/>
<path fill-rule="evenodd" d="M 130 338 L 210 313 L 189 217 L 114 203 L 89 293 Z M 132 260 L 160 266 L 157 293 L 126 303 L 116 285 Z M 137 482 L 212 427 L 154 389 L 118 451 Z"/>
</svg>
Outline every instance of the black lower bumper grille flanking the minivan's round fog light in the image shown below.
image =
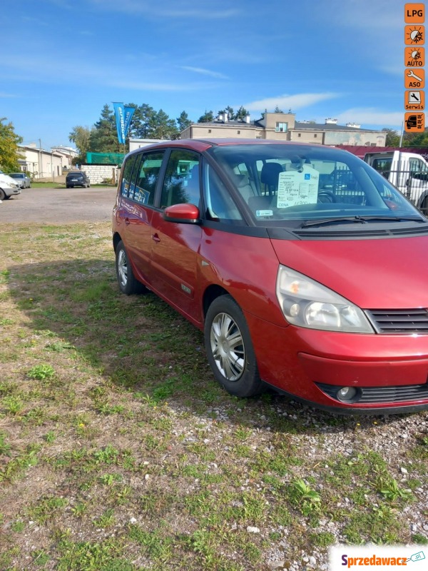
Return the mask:
<svg viewBox="0 0 428 571">
<path fill-rule="evenodd" d="M 337 390 L 341 387 L 337 385 L 326 385 L 325 383 L 315 383 L 323 393 L 330 398 L 336 398 Z M 417 400 L 428 400 L 428 384 L 424 385 L 400 385 L 389 387 L 360 387 L 361 398 L 355 401 L 357 405 L 376 404 L 396 404 L 409 403 Z"/>
</svg>

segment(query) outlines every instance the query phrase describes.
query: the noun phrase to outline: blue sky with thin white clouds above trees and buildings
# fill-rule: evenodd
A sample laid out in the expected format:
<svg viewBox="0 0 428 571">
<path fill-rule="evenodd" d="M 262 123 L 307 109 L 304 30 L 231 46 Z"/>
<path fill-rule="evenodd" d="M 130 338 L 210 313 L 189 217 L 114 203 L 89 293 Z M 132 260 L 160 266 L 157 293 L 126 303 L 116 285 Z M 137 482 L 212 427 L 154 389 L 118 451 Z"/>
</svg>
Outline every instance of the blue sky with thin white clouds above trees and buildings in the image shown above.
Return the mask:
<svg viewBox="0 0 428 571">
<path fill-rule="evenodd" d="M 105 103 L 171 118 L 278 105 L 297 121 L 401 129 L 404 1 L 3 0 L 0 117 L 70 145 Z"/>
</svg>

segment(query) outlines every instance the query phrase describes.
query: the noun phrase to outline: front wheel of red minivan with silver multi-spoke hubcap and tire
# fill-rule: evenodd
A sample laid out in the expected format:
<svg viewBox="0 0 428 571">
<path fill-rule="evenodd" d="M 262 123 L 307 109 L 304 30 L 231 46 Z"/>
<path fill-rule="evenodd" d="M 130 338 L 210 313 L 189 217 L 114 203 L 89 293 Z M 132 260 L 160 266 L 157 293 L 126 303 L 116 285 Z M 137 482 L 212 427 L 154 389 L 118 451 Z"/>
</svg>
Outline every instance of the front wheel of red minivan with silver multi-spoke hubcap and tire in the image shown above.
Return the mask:
<svg viewBox="0 0 428 571">
<path fill-rule="evenodd" d="M 215 298 L 205 316 L 208 363 L 231 395 L 252 397 L 263 392 L 253 343 L 243 311 L 230 295 Z"/>
</svg>

